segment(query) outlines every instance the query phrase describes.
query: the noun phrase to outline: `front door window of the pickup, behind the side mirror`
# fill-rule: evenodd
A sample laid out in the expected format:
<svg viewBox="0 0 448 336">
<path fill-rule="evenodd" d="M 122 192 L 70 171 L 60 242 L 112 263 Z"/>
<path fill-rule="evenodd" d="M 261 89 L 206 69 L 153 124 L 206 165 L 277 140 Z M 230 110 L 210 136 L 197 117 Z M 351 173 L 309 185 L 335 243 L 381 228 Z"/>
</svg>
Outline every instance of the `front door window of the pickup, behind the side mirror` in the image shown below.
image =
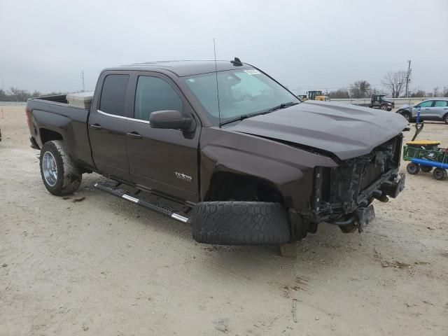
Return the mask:
<svg viewBox="0 0 448 336">
<path fill-rule="evenodd" d="M 171 85 L 158 77 L 139 76 L 135 94 L 134 118 L 149 120 L 154 111 L 182 112 L 182 101 Z"/>
</svg>

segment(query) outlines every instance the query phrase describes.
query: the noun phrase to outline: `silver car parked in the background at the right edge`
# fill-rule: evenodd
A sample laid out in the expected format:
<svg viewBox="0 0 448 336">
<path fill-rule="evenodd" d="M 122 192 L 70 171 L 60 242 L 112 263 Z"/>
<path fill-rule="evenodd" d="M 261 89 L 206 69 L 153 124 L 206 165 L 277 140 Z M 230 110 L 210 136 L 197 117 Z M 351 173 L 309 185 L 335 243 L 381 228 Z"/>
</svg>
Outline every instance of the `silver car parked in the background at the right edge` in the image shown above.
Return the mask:
<svg viewBox="0 0 448 336">
<path fill-rule="evenodd" d="M 437 120 L 448 124 L 448 98 L 426 99 L 414 106 L 404 105 L 397 113 L 412 122 L 416 120 L 419 111 L 420 120 Z"/>
</svg>

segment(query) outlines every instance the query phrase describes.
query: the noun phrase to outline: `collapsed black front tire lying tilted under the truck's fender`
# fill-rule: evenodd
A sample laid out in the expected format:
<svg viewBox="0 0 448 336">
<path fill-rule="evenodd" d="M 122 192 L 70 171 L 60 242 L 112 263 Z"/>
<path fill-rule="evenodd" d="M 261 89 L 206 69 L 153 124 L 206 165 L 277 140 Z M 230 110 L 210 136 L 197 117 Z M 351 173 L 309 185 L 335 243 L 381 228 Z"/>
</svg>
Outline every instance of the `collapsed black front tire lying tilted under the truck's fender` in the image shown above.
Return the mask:
<svg viewBox="0 0 448 336">
<path fill-rule="evenodd" d="M 193 208 L 193 239 L 223 245 L 284 244 L 288 213 L 272 202 L 202 202 Z"/>
</svg>

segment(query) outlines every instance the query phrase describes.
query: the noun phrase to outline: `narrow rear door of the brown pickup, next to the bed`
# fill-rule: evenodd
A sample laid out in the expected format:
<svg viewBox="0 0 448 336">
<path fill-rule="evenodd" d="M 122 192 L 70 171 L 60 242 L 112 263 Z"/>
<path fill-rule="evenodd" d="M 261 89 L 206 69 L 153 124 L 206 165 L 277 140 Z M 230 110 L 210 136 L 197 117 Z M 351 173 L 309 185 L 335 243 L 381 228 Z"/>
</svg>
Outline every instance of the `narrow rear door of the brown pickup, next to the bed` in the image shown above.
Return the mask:
<svg viewBox="0 0 448 336">
<path fill-rule="evenodd" d="M 104 72 L 89 117 L 90 146 L 94 164 L 106 176 L 130 181 L 126 151 L 125 110 L 130 94 L 129 73 Z"/>
</svg>

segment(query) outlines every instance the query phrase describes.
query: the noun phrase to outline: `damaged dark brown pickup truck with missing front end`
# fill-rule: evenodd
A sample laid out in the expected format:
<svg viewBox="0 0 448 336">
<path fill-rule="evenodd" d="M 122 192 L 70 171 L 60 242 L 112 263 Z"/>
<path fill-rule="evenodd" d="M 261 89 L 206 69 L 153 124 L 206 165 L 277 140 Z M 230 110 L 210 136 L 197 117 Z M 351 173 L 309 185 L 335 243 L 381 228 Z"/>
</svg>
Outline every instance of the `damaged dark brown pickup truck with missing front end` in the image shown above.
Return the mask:
<svg viewBox="0 0 448 336">
<path fill-rule="evenodd" d="M 29 99 L 26 114 L 50 193 L 97 172 L 113 183 L 95 187 L 191 223 L 203 243 L 288 244 L 321 222 L 361 231 L 405 183 L 405 118 L 301 102 L 237 58 L 105 69 L 90 109 L 62 95 Z"/>
</svg>

